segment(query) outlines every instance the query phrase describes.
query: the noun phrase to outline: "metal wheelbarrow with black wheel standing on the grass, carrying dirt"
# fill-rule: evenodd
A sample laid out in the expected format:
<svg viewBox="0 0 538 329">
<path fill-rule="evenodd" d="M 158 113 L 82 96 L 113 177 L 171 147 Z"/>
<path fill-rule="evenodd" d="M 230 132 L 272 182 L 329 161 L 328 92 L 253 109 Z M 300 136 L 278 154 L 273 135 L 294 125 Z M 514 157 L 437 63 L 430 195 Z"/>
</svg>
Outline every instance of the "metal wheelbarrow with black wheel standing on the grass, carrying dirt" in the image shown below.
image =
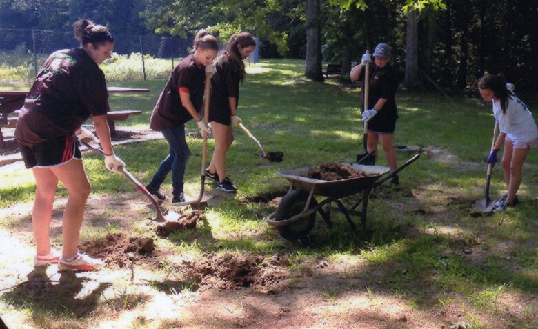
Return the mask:
<svg viewBox="0 0 538 329">
<path fill-rule="evenodd" d="M 266 221 L 269 226 L 277 228 L 281 237 L 291 241 L 303 239 L 308 235 L 314 227 L 316 212 L 319 212 L 329 228 L 332 227 L 330 212 L 341 212 L 346 217 L 352 230 L 356 230 L 357 227 L 350 215 L 360 216 L 362 226 L 366 224 L 368 197 L 372 188 L 376 188 L 388 181 L 388 179 L 397 175 L 398 172 L 419 157 L 420 154 L 416 154 L 406 163 L 403 163 L 402 166 L 392 171 L 390 175 L 383 177 L 379 181 L 378 179 L 390 171 L 389 168 L 341 162 L 341 164 L 350 166 L 361 175 L 336 181 L 306 177 L 308 170 L 313 166 L 280 170 L 277 174 L 290 181 L 290 190 L 282 197 L 277 210 L 272 212 L 266 218 Z M 359 194 L 361 194 L 359 200 L 355 201 L 349 208 L 346 208 L 341 201 L 341 199 Z M 325 197 L 325 199 L 318 202 L 315 196 Z M 335 203 L 337 208 L 333 207 L 332 203 Z M 357 210 L 360 205 L 362 205 L 361 210 Z"/>
</svg>

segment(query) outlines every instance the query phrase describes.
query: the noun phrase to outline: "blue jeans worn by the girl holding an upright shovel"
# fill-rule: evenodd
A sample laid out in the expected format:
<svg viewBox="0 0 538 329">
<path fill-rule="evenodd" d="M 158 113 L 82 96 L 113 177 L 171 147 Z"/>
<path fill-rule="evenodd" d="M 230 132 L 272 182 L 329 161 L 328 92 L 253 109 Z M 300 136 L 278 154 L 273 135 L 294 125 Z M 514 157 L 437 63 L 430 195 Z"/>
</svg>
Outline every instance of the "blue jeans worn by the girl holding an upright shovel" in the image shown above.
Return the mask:
<svg viewBox="0 0 538 329">
<path fill-rule="evenodd" d="M 185 126 L 165 129 L 162 133 L 170 145 L 170 154 L 161 162 L 148 186 L 152 190 L 159 190 L 166 175 L 171 171 L 172 194 L 179 195 L 183 192 L 183 176 L 185 176 L 185 168 L 190 156 L 190 150 L 185 140 Z"/>
</svg>

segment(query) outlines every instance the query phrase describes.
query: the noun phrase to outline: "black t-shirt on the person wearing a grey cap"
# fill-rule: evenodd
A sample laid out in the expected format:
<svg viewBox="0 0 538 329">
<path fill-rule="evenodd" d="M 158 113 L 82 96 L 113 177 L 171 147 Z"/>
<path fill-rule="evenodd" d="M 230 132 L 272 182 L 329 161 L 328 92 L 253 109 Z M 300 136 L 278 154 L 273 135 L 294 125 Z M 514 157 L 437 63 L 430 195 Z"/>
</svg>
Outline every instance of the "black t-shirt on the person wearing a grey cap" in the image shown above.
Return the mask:
<svg viewBox="0 0 538 329">
<path fill-rule="evenodd" d="M 364 86 L 364 73 L 361 71 L 359 79 Z M 368 126 L 374 126 L 377 121 L 395 121 L 398 119 L 396 107 L 396 90 L 398 88 L 398 78 L 396 72 L 390 64 L 384 68 L 379 68 L 375 63 L 370 64 L 370 85 L 368 86 L 368 110 L 375 106 L 380 98 L 386 99 L 386 103 L 377 114 L 368 121 Z M 361 112 L 364 109 L 364 88 L 361 90 Z"/>
</svg>

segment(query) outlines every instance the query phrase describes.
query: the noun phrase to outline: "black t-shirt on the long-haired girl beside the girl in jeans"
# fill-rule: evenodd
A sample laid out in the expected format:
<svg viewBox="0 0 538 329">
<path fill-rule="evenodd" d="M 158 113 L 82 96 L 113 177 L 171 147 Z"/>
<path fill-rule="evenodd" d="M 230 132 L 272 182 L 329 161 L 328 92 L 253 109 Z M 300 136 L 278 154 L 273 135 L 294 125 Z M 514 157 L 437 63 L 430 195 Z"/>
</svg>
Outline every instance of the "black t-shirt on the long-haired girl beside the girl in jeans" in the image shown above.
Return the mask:
<svg viewBox="0 0 538 329">
<path fill-rule="evenodd" d="M 230 103 L 228 97 L 235 97 L 236 108 L 239 104 L 239 68 L 233 59 L 224 55 L 217 62 L 217 72 L 211 77 L 209 102 L 209 121 L 230 124 Z"/>
</svg>

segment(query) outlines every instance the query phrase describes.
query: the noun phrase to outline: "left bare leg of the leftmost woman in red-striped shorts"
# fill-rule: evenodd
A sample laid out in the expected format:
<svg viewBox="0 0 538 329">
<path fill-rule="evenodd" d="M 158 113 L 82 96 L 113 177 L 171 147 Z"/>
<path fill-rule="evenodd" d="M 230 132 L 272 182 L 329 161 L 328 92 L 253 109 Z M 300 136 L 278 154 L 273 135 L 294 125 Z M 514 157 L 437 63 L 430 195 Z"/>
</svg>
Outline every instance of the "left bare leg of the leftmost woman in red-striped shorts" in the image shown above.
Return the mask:
<svg viewBox="0 0 538 329">
<path fill-rule="evenodd" d="M 50 253 L 50 220 L 52 219 L 52 206 L 58 179 L 48 168 L 34 168 L 32 172 L 36 181 L 35 201 L 32 210 L 36 251 L 37 255 L 48 255 Z"/>
</svg>

